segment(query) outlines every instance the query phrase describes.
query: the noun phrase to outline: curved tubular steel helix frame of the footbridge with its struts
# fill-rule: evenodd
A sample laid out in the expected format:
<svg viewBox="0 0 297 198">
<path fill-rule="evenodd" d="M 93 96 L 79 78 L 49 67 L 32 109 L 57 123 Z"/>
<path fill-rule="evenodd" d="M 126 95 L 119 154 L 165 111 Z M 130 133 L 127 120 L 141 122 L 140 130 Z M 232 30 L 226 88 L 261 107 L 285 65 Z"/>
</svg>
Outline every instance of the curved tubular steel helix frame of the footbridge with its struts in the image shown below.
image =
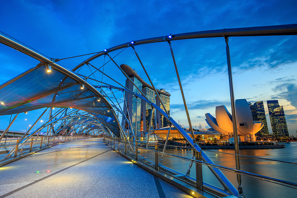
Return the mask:
<svg viewBox="0 0 297 198">
<path fill-rule="evenodd" d="M 142 40 L 137 40 L 137 41 L 134 41 L 133 43 L 132 42 L 128 42 L 128 43 L 124 43 L 124 44 L 121 44 L 121 45 L 117 45 L 117 46 L 114 46 L 114 47 L 111 47 L 111 48 L 108 48 L 100 53 L 97 53 L 95 54 L 94 56 L 91 56 L 90 58 L 86 59 L 85 61 L 83 61 L 82 63 L 78 64 L 75 68 L 71 70 L 63 67 L 61 64 L 57 63 L 56 61 L 59 61 L 60 59 L 53 59 L 53 58 L 50 58 L 48 56 L 45 56 L 44 54 L 38 52 L 37 50 L 29 47 L 28 45 L 8 36 L 7 34 L 4 34 L 3 32 L 0 32 L 0 42 L 4 45 L 7 45 L 9 47 L 12 47 L 13 49 L 16 49 L 22 53 L 25 53 L 26 55 L 28 56 L 31 56 L 39 61 L 40 64 L 37 65 L 37 67 L 40 67 L 40 66 L 43 66 L 43 65 L 49 65 L 51 66 L 52 68 L 54 68 L 55 70 L 61 72 L 62 74 L 64 74 L 66 77 L 70 77 L 74 80 L 76 80 L 78 83 L 81 83 L 83 84 L 86 88 L 88 88 L 91 92 L 94 93 L 95 96 L 99 97 L 100 99 L 102 99 L 102 101 L 107 105 L 107 107 L 112 111 L 112 114 L 117 122 L 117 126 L 118 126 L 118 129 L 119 129 L 119 134 L 118 136 L 122 136 L 122 137 L 125 137 L 126 140 L 127 140 L 127 137 L 126 137 L 126 134 L 125 134 L 125 131 L 123 129 L 123 126 L 121 126 L 121 123 L 118 119 L 118 116 L 116 115 L 116 112 L 115 112 L 115 109 L 113 107 L 115 107 L 115 105 L 111 105 L 110 102 L 105 98 L 105 97 L 108 97 L 106 94 L 105 96 L 102 95 L 102 93 L 97 90 L 94 86 L 92 86 L 91 84 L 87 83 L 85 79 L 82 79 L 78 74 L 75 73 L 75 71 L 77 69 L 79 69 L 81 66 L 83 66 L 84 64 L 89 64 L 90 61 L 94 60 L 95 58 L 98 58 L 102 55 L 108 55 L 109 52 L 112 52 L 112 51 L 115 51 L 115 50 L 119 50 L 119 49 L 123 49 L 123 48 L 127 48 L 127 47 L 132 47 L 133 50 L 135 51 L 135 47 L 134 46 L 137 46 L 137 45 L 143 45 L 143 44 L 148 44 L 148 43 L 154 43 L 154 42 L 168 42 L 169 44 L 171 44 L 171 41 L 174 41 L 174 40 L 181 40 L 181 39 L 197 39 L 197 38 L 214 38 L 214 37 L 224 37 L 225 38 L 225 41 L 226 41 L 226 54 L 227 54 L 227 65 L 228 65 L 228 76 L 229 76 L 229 85 L 230 85 L 230 100 L 231 100 L 231 108 L 232 108 L 232 117 L 233 117 L 233 132 L 234 132 L 234 141 L 237 142 L 237 129 L 236 129 L 236 118 L 235 118 L 235 103 L 234 103 L 234 91 L 233 91 L 233 82 L 232 82 L 232 70 L 231 70 L 231 61 L 230 61 L 230 50 L 229 50 L 229 45 L 228 45 L 228 38 L 229 37 L 246 37 L 246 36 L 279 36 L 279 35 L 296 35 L 297 34 L 297 24 L 289 24 L 289 25 L 278 25 L 278 26 L 261 26 L 261 27 L 249 27 L 249 28 L 230 28 L 230 29 L 219 29 L 219 30 L 210 30 L 210 31 L 198 31 L 198 32 L 190 32 L 190 33 L 183 33 L 183 34 L 174 34 L 174 35 L 171 35 L 170 34 L 170 37 L 169 35 L 167 36 L 161 36 L 161 37 L 154 37 L 154 38 L 149 38 L 149 39 L 142 39 Z M 190 125 L 190 128 L 191 128 L 191 133 L 192 133 L 192 136 L 193 136 L 193 129 L 192 129 L 192 125 L 191 125 L 191 121 L 190 121 L 190 117 L 189 117 L 189 113 L 188 113 L 188 110 L 187 110 L 187 104 L 186 104 L 186 101 L 184 99 L 184 94 L 183 94 L 183 90 L 182 90 L 182 85 L 181 85 L 181 82 L 180 82 L 180 78 L 179 78 L 179 75 L 178 75 L 178 70 L 177 70 L 177 66 L 176 66 L 176 62 L 175 62 L 175 58 L 173 56 L 173 51 L 172 51 L 172 47 L 170 45 L 170 50 L 171 50 L 171 53 L 172 53 L 172 58 L 173 58 L 173 62 L 174 62 L 174 65 L 175 65 L 175 68 L 176 68 L 176 73 L 177 73 L 177 77 L 178 77 L 178 81 L 179 81 L 179 85 L 180 85 L 180 88 L 181 88 L 181 93 L 182 93 L 182 96 L 183 96 L 183 101 L 184 101 L 184 105 L 185 105 L 185 109 L 186 109 L 186 113 L 187 113 L 187 118 L 188 118 L 188 121 L 189 121 L 189 125 Z M 138 58 L 138 60 L 140 61 L 140 58 L 138 56 L 138 54 L 136 53 L 135 51 L 135 54 Z M 109 55 L 108 55 L 109 56 Z M 109 56 L 110 57 L 110 56 Z M 113 58 L 110 57 L 110 59 L 114 62 L 114 64 L 116 64 L 116 62 L 113 60 Z M 140 64 L 143 66 L 142 62 L 140 61 Z M 116 66 L 118 66 L 116 64 Z M 21 77 L 25 76 L 26 74 L 34 71 L 35 69 L 37 69 L 37 67 L 35 68 L 32 68 L 32 69 L 29 69 L 28 71 L 24 72 L 23 74 L 21 75 L 18 75 L 17 77 L 13 78 L 12 80 L 4 83 L 3 85 L 0 85 L 0 89 L 9 85 L 10 83 L 13 83 L 14 81 L 20 79 Z M 93 66 L 94 67 L 94 66 Z M 118 66 L 119 67 L 119 66 Z M 97 69 L 97 68 L 96 68 Z M 121 68 L 119 67 L 119 69 L 121 70 Z M 149 78 L 150 80 L 150 77 L 149 75 L 147 74 L 144 66 L 143 66 L 143 69 L 147 75 L 147 77 Z M 99 69 L 97 69 L 98 71 L 100 71 Z M 121 70 L 122 71 L 122 70 Z M 100 71 L 101 72 L 101 71 Z M 122 71 L 123 72 L 123 71 Z M 132 81 L 126 74 L 125 72 L 123 72 L 123 74 L 130 80 Z M 102 78 L 103 78 L 103 75 L 106 75 L 102 72 Z M 108 76 L 109 77 L 109 76 Z M 114 80 L 113 78 L 109 77 L 110 79 Z M 96 80 L 96 79 L 95 79 Z M 97 80 L 96 80 L 97 81 Z M 114 80 L 116 82 L 116 80 Z M 99 82 L 99 81 L 97 81 Z M 151 80 L 150 80 L 151 82 Z M 101 82 L 102 83 L 102 82 Z M 116 82 L 118 83 L 118 82 Z M 133 82 L 132 82 L 133 83 Z M 118 83 L 119 85 L 121 85 L 120 83 Z M 134 84 L 134 83 L 133 83 Z M 153 86 L 154 88 L 154 85 L 153 83 L 151 82 L 151 85 Z M 121 85 L 122 86 L 122 85 Z M 105 85 L 101 85 L 101 86 L 98 86 L 98 88 L 101 88 L 102 87 L 105 87 Z M 162 103 L 162 101 L 160 100 L 164 110 L 162 110 L 160 107 L 158 107 L 156 104 L 150 102 L 146 96 L 140 91 L 141 95 L 140 94 L 135 94 L 134 92 L 130 91 L 129 89 L 123 87 L 123 88 L 119 88 L 119 87 L 115 87 L 115 86 L 111 86 L 111 85 L 108 85 L 108 88 L 113 88 L 113 89 L 118 89 L 118 90 L 121 90 L 121 91 L 126 91 L 130 94 L 133 94 L 135 97 L 138 97 L 140 99 L 142 99 L 142 101 L 146 102 L 147 104 L 150 104 L 150 106 L 153 108 L 155 108 L 157 111 L 159 111 L 166 119 L 168 119 L 170 125 L 172 124 L 177 130 L 178 132 L 189 142 L 189 144 L 195 149 L 195 152 L 196 153 L 201 153 L 201 155 L 199 156 L 196 156 L 196 159 L 200 159 L 203 160 L 205 163 L 207 163 L 209 166 L 209 169 L 211 170 L 211 172 L 213 172 L 213 174 L 217 177 L 217 179 L 219 180 L 219 182 L 224 186 L 225 190 L 228 191 L 230 194 L 233 194 L 235 196 L 243 196 L 243 192 L 242 192 L 242 188 L 241 188 L 241 174 L 242 171 L 240 171 L 240 163 L 239 163 L 239 150 L 238 150 L 238 145 L 235 146 L 235 154 L 236 154 L 236 170 L 237 170 L 237 180 L 238 180 L 238 190 L 230 183 L 230 181 L 225 177 L 225 175 L 222 174 L 222 172 L 217 169 L 217 165 L 215 165 L 209 158 L 208 156 L 200 149 L 200 147 L 196 144 L 195 142 L 195 139 L 193 137 L 193 139 L 181 128 L 181 126 L 178 125 L 178 123 L 176 123 L 176 121 L 174 121 L 171 117 L 169 117 L 168 115 L 168 112 L 167 110 L 165 109 L 164 107 L 164 104 Z M 154 88 L 155 89 L 155 88 Z M 155 89 L 156 91 L 156 89 Z M 157 94 L 158 95 L 158 94 Z M 54 99 L 53 99 L 54 100 Z M 119 105 L 119 102 L 117 102 L 118 105 Z M 127 106 L 127 104 L 126 104 Z M 118 109 L 116 109 L 118 110 Z M 62 112 L 62 111 L 61 111 Z M 60 113 L 61 113 L 60 112 Z M 122 113 L 120 110 L 118 110 L 119 113 Z M 44 112 L 45 113 L 45 112 Z M 44 114 L 43 113 L 43 114 Z M 42 115 L 43 115 L 42 114 Z M 41 115 L 41 116 L 42 116 Z M 40 116 L 40 117 L 41 117 Z M 56 115 L 57 116 L 57 115 Z M 125 115 L 122 115 L 125 117 Z M 66 118 L 67 117 L 67 118 Z M 81 117 L 81 115 L 78 115 L 77 117 Z M 16 118 L 16 117 L 15 117 Z M 50 115 L 50 118 L 51 118 L 51 115 Z M 33 128 L 33 126 L 30 127 L 30 129 L 27 131 L 27 133 L 21 138 L 20 140 L 20 143 L 22 142 L 25 142 L 27 140 L 29 140 L 29 138 L 37 133 L 37 132 L 40 132 L 40 130 L 42 128 L 44 128 L 45 126 L 50 126 L 50 130 L 52 129 L 52 125 L 53 123 L 57 122 L 56 120 L 55 121 L 50 121 L 52 119 L 49 118 L 49 121 L 41 126 L 39 129 L 37 129 L 36 131 L 32 132 L 31 134 L 29 134 L 28 136 L 26 136 L 30 129 Z M 68 119 L 69 118 L 69 115 L 66 115 L 66 112 L 65 112 L 65 116 L 64 116 L 64 119 Z M 38 118 L 40 119 L 40 118 Z M 37 121 L 38 121 L 37 119 Z M 37 122 L 36 121 L 36 122 Z M 13 122 L 13 121 L 12 121 Z M 36 124 L 36 122 L 34 124 Z M 127 123 L 130 125 L 130 129 L 132 130 L 132 126 L 131 126 L 131 122 L 129 120 L 127 120 Z M 10 123 L 10 126 L 11 126 L 12 123 Z M 10 127 L 9 126 L 9 127 Z M 8 127 L 8 128 L 9 128 Z M 75 129 L 77 129 L 78 127 L 76 127 Z M 110 135 L 113 135 L 112 132 L 110 132 L 110 130 L 108 129 L 108 127 L 105 126 L 105 128 L 107 130 L 105 130 L 104 133 L 107 133 L 107 134 L 110 134 Z M 72 129 L 75 130 L 75 129 Z M 7 129 L 8 130 L 8 129 Z M 48 130 L 48 132 L 50 131 Z M 79 133 L 84 131 L 86 129 L 83 129 L 82 126 L 80 126 L 80 130 L 79 130 Z M 170 130 L 170 129 L 169 129 Z M 89 131 L 89 130 L 88 130 Z M 86 131 L 87 132 L 87 131 Z M 85 132 L 85 133 L 86 133 Z M 58 131 L 55 133 L 57 134 Z M 55 135 L 53 134 L 53 135 Z M 132 132 L 132 134 L 134 134 Z M 3 136 L 3 134 L 2 134 Z M 1 137 L 2 137 L 1 136 Z M 25 138 L 26 136 L 26 138 Z M 26 140 L 25 140 L 25 139 Z M 65 137 L 65 140 L 66 140 L 66 137 Z M 135 140 L 136 140 L 136 132 L 135 132 Z M 18 146 L 19 144 L 16 145 L 16 147 Z M 131 146 L 131 144 L 129 143 L 129 145 Z M 235 144 L 236 145 L 236 144 Z M 12 153 L 11 153 L 12 154 Z M 137 155 L 137 153 L 136 153 Z M 197 155 L 197 154 L 196 154 Z M 194 157 L 194 155 L 193 155 Z M 199 167 L 198 167 L 199 169 Z M 202 178 L 201 178 L 202 179 Z M 200 184 L 199 184 L 200 185 Z M 199 186 L 197 184 L 197 186 Z M 200 185 L 201 187 L 201 185 Z"/>
</svg>

